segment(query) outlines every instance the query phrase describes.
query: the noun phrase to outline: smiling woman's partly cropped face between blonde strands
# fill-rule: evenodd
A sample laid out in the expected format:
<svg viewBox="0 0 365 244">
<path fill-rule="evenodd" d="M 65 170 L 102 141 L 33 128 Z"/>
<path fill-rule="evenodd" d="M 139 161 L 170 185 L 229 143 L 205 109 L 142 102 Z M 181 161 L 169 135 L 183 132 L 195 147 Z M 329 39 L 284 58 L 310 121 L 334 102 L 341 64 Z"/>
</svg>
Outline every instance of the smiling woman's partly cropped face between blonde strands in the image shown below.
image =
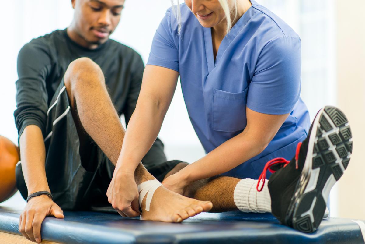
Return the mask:
<svg viewBox="0 0 365 244">
<path fill-rule="evenodd" d="M 185 0 L 185 4 L 203 27 L 211 28 L 225 21 L 223 8 L 218 0 Z"/>
</svg>

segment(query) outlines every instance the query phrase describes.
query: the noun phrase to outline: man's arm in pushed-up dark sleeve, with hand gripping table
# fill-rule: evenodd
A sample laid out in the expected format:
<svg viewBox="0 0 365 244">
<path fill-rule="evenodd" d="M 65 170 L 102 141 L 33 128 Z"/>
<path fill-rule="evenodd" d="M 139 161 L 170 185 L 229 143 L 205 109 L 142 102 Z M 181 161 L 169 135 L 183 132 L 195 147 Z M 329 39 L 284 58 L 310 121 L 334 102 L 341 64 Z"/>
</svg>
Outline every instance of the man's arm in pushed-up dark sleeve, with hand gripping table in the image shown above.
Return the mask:
<svg viewBox="0 0 365 244">
<path fill-rule="evenodd" d="M 18 55 L 16 82 L 17 109 L 14 112 L 19 133 L 20 158 L 28 195 L 50 191 L 45 171 L 43 141 L 47 113 L 46 77 L 51 61 L 47 45 L 32 41 Z M 41 224 L 47 215 L 63 218 L 60 207 L 47 195 L 31 198 L 19 218 L 19 231 L 28 240 L 41 242 Z"/>
</svg>

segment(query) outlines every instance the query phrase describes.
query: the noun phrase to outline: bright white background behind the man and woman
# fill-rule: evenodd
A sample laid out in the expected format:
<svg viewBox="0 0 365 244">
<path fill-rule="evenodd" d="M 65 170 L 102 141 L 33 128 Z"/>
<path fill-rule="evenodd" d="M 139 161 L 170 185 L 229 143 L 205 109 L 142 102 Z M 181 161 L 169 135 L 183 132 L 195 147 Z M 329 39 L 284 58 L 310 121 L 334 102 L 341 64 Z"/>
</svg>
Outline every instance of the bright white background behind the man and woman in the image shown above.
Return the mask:
<svg viewBox="0 0 365 244">
<path fill-rule="evenodd" d="M 315 4 L 306 0 L 257 0 L 284 19 L 302 40 L 302 92 L 314 117 L 325 104 L 336 104 L 334 79 L 334 21 L 331 0 Z M 180 0 L 180 2 L 183 2 Z M 0 15 L 0 135 L 16 142 L 14 124 L 16 57 L 19 49 L 32 38 L 67 27 L 73 17 L 70 0 L 1 1 Z M 139 52 L 146 63 L 151 41 L 163 18 L 169 0 L 126 0 L 122 18 L 111 38 Z M 178 85 L 159 137 L 165 143 L 169 159 L 193 162 L 204 150 L 191 126 Z M 9 201 L 19 202 L 19 195 Z M 13 203 L 12 202 L 12 203 Z M 335 207 L 334 207 L 335 209 Z M 336 213 L 333 211 L 332 216 Z"/>
</svg>

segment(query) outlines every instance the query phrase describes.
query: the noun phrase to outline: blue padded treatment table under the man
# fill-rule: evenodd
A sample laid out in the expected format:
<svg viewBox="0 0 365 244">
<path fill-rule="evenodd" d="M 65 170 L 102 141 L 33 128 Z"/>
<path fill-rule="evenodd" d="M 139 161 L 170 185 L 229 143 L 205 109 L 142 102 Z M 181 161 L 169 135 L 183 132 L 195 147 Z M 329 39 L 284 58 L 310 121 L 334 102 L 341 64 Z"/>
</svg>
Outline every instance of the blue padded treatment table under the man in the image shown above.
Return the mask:
<svg viewBox="0 0 365 244">
<path fill-rule="evenodd" d="M 0 207 L 0 231 L 20 235 L 21 210 Z M 117 214 L 65 211 L 47 217 L 42 238 L 59 243 L 364 243 L 356 222 L 327 218 L 315 233 L 281 225 L 271 214 L 201 213 L 183 223 L 142 221 Z M 364 223 L 364 222 L 362 222 Z M 1 243 L 1 240 L 0 240 Z"/>
</svg>

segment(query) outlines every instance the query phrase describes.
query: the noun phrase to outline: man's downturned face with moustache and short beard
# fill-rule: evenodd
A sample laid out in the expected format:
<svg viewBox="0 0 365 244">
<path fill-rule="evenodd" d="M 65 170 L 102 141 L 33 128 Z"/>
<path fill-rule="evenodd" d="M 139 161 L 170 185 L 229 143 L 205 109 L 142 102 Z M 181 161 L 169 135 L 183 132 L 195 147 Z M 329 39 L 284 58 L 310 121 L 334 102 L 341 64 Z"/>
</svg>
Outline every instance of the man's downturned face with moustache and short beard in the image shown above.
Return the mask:
<svg viewBox="0 0 365 244">
<path fill-rule="evenodd" d="M 120 20 L 124 0 L 72 0 L 75 31 L 88 43 L 102 44 Z"/>
</svg>

